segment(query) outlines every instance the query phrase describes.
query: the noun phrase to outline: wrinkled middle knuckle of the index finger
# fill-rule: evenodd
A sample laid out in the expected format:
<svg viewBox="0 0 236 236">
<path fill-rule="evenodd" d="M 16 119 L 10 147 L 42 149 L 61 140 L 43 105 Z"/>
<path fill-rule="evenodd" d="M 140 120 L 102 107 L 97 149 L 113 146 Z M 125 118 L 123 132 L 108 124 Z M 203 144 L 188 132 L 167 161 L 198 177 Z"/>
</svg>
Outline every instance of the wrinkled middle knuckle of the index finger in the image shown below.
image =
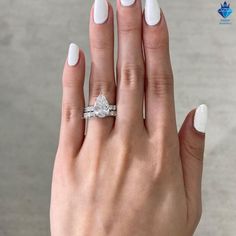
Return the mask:
<svg viewBox="0 0 236 236">
<path fill-rule="evenodd" d="M 148 90 L 157 96 L 171 94 L 174 89 L 173 75 L 152 75 L 148 78 Z"/>
</svg>

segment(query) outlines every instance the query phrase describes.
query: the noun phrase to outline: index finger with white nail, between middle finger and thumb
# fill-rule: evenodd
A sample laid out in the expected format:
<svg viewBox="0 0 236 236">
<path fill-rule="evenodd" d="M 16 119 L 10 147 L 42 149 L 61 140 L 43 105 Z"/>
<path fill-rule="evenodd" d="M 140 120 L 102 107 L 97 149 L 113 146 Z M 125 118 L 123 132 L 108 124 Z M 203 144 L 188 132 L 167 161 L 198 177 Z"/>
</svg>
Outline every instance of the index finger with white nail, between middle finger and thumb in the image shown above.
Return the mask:
<svg viewBox="0 0 236 236">
<path fill-rule="evenodd" d="M 146 127 L 150 134 L 162 128 L 176 130 L 173 75 L 165 17 L 157 0 L 147 0 L 143 20 L 146 59 Z M 177 134 L 177 131 L 176 131 Z"/>
</svg>

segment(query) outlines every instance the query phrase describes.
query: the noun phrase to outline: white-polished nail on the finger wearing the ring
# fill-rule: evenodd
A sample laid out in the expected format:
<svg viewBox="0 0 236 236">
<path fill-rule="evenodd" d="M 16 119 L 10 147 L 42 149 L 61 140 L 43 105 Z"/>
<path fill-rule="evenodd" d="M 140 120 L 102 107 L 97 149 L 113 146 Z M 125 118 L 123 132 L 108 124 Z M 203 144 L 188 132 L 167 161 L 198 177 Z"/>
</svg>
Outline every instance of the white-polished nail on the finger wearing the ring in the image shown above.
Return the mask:
<svg viewBox="0 0 236 236">
<path fill-rule="evenodd" d="M 94 22 L 103 24 L 108 18 L 108 4 L 106 0 L 95 0 L 94 3 Z"/>
</svg>

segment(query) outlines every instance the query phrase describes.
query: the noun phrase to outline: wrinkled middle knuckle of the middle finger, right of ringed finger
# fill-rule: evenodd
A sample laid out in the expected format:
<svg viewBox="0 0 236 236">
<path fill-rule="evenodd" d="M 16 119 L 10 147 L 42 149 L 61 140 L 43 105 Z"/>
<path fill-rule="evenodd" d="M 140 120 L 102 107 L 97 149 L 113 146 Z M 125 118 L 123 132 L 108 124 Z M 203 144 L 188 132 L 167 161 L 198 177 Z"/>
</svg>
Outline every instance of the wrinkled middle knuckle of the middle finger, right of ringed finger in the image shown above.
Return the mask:
<svg viewBox="0 0 236 236">
<path fill-rule="evenodd" d="M 126 64 L 121 67 L 120 87 L 136 89 L 144 78 L 144 66 Z"/>
</svg>

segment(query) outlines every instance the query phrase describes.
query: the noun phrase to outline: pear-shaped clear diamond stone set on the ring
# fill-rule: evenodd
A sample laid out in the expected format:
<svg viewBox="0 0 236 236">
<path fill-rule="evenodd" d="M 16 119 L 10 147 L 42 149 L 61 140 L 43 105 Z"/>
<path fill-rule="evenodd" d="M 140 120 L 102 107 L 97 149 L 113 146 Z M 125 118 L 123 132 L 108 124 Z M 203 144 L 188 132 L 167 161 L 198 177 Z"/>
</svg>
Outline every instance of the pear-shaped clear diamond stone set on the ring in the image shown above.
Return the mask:
<svg viewBox="0 0 236 236">
<path fill-rule="evenodd" d="M 105 96 L 100 94 L 96 98 L 94 113 L 99 118 L 104 118 L 109 115 L 109 103 Z"/>
</svg>

